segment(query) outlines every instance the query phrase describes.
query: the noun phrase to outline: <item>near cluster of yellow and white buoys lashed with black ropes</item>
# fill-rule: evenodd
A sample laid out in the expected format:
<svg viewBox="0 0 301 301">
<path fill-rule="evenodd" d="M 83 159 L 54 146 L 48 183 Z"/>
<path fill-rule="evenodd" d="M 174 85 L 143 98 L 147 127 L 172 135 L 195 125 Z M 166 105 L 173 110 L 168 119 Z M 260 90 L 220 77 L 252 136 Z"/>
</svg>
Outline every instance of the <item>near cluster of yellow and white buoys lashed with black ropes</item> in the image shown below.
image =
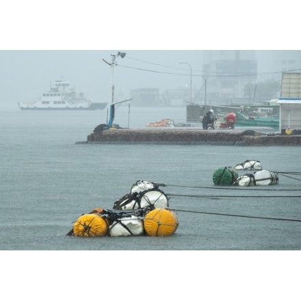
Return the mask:
<svg viewBox="0 0 301 301">
<path fill-rule="evenodd" d="M 174 210 L 168 208 L 168 196 L 158 183 L 137 181 L 130 193 L 114 202 L 113 210 L 95 208 L 81 215 L 67 235 L 169 236 L 179 226 Z M 161 184 L 163 185 L 163 184 Z"/>
</svg>

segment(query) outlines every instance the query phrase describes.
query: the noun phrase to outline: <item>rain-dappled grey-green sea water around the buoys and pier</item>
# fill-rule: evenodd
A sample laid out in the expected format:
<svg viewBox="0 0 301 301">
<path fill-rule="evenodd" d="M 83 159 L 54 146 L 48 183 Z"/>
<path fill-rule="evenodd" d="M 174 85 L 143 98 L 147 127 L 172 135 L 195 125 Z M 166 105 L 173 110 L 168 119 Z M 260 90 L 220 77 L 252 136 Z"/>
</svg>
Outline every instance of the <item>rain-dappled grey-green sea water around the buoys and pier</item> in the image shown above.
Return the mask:
<svg viewBox="0 0 301 301">
<path fill-rule="evenodd" d="M 132 108 L 129 116 L 124 108 L 116 122 L 185 121 L 185 107 L 165 109 L 168 116 L 160 110 Z M 104 123 L 105 114 L 1 112 L 1 250 L 301 249 L 301 223 L 280 220 L 301 220 L 300 180 L 280 174 L 278 185 L 260 190 L 222 189 L 212 181 L 216 169 L 246 159 L 266 170 L 299 172 L 300 147 L 75 144 Z M 163 191 L 176 195 L 170 198 L 179 219 L 174 235 L 66 236 L 81 214 L 112 209 L 142 179 L 166 183 Z"/>
</svg>

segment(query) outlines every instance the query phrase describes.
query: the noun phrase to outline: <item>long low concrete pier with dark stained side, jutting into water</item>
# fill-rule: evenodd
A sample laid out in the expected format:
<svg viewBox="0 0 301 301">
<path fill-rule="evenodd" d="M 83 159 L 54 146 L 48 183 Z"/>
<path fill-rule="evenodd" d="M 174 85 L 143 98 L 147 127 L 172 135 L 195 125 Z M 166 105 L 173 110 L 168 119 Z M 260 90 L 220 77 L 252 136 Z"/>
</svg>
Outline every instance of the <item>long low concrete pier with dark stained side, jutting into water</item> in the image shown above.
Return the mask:
<svg viewBox="0 0 301 301">
<path fill-rule="evenodd" d="M 300 146 L 301 135 L 263 134 L 252 130 L 198 128 L 105 129 L 76 144 L 213 144 L 228 146 Z"/>
</svg>

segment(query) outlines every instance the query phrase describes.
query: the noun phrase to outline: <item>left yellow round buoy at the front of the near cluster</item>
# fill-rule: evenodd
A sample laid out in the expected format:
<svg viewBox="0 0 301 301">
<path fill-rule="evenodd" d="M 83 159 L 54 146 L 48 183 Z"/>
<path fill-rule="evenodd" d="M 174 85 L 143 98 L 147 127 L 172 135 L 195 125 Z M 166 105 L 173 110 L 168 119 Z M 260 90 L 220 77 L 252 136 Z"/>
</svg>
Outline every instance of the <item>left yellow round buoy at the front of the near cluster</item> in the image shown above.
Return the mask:
<svg viewBox="0 0 301 301">
<path fill-rule="evenodd" d="M 105 236 L 109 222 L 96 213 L 83 214 L 73 225 L 75 236 Z"/>
</svg>

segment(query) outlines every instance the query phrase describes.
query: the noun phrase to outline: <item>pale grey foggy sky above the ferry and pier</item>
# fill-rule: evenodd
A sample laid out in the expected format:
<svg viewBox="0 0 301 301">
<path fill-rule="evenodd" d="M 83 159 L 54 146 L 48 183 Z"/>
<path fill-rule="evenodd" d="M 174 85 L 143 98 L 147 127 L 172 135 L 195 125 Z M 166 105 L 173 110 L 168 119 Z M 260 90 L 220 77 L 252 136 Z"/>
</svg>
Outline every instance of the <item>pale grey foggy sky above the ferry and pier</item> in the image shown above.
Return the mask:
<svg viewBox="0 0 301 301">
<path fill-rule="evenodd" d="M 114 67 L 115 100 L 129 99 L 130 90 L 159 88 L 163 90 L 202 86 L 201 50 L 2 50 L 0 81 L 2 105 L 16 107 L 18 101 L 31 101 L 50 88 L 51 81 L 64 76 L 78 92 L 85 92 L 93 102 L 112 99 L 111 53 L 125 52 Z M 257 51 L 258 72 L 273 71 L 272 51 Z M 264 77 L 261 77 L 263 80 Z"/>
</svg>

